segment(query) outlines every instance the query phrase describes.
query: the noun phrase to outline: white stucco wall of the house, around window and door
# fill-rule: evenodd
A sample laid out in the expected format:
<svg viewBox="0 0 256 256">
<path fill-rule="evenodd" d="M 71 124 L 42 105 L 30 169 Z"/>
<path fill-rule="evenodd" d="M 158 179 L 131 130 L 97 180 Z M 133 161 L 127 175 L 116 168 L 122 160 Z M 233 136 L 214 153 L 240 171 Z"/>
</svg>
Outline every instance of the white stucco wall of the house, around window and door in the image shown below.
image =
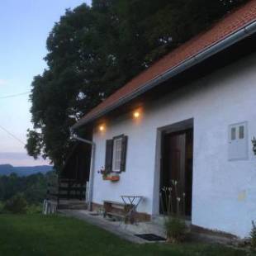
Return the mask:
<svg viewBox="0 0 256 256">
<path fill-rule="evenodd" d="M 256 220 L 256 159 L 250 140 L 256 136 L 256 55 L 202 78 L 172 96 L 145 107 L 139 122 L 120 116 L 97 128 L 93 202 L 120 201 L 121 194 L 145 197 L 139 211 L 158 212 L 159 168 L 155 163 L 157 130 L 194 120 L 192 224 L 249 235 Z M 228 160 L 228 127 L 248 121 L 249 159 Z M 128 135 L 126 172 L 118 183 L 102 181 L 106 140 Z"/>
</svg>

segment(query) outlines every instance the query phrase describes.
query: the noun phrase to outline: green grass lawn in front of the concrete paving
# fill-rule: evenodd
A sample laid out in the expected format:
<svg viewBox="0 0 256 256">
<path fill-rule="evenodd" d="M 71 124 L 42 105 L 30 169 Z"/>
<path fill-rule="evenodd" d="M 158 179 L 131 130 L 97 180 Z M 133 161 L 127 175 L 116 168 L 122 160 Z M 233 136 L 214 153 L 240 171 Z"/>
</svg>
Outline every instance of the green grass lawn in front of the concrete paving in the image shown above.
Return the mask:
<svg viewBox="0 0 256 256">
<path fill-rule="evenodd" d="M 64 216 L 0 215 L 1 256 L 248 255 L 209 244 L 131 244 L 105 230 Z"/>
</svg>

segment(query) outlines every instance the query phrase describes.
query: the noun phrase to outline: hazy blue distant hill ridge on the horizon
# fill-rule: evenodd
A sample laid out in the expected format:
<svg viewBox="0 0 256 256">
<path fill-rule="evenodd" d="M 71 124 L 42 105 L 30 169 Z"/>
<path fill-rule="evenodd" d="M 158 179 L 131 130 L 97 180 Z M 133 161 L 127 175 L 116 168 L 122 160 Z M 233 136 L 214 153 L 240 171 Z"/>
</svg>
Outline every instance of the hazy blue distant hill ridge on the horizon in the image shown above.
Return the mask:
<svg viewBox="0 0 256 256">
<path fill-rule="evenodd" d="M 45 174 L 52 170 L 53 167 L 50 165 L 14 167 L 11 164 L 0 164 L 0 175 L 10 175 L 11 173 L 17 173 L 19 176 L 28 176 L 35 173 Z"/>
</svg>

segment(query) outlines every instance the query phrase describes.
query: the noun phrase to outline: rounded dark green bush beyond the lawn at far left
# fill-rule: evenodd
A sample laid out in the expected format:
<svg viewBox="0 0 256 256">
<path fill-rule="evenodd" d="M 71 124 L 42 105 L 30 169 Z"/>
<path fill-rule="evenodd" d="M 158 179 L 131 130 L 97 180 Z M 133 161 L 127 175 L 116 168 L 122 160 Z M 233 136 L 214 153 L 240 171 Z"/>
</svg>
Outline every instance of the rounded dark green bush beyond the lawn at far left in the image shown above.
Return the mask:
<svg viewBox="0 0 256 256">
<path fill-rule="evenodd" d="M 21 193 L 17 193 L 11 199 L 7 200 L 3 210 L 12 213 L 26 213 L 26 209 L 26 198 Z"/>
</svg>

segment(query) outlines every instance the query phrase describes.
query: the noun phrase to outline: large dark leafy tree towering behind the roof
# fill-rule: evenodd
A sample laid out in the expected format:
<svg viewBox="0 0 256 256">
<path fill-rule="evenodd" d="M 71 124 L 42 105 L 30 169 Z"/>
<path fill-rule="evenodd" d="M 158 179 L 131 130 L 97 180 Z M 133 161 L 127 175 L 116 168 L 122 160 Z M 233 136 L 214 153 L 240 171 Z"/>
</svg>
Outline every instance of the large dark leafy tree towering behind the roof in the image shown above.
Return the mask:
<svg viewBox="0 0 256 256">
<path fill-rule="evenodd" d="M 26 149 L 60 169 L 69 126 L 160 56 L 246 0 L 93 0 L 67 10 L 47 39 L 48 68 L 34 78 Z"/>
</svg>

